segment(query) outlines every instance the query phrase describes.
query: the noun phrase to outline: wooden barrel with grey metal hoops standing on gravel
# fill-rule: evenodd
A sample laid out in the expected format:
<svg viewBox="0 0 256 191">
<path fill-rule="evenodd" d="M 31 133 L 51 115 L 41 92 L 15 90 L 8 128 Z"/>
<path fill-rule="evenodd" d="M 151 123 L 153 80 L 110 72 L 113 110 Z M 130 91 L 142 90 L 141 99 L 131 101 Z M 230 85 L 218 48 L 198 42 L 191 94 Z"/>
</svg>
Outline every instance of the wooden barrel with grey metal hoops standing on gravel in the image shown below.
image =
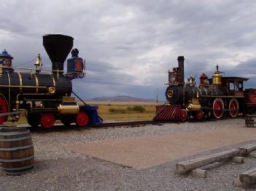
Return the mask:
<svg viewBox="0 0 256 191">
<path fill-rule="evenodd" d="M 34 146 L 28 129 L 0 126 L 0 162 L 8 175 L 26 174 L 34 168 Z"/>
</svg>

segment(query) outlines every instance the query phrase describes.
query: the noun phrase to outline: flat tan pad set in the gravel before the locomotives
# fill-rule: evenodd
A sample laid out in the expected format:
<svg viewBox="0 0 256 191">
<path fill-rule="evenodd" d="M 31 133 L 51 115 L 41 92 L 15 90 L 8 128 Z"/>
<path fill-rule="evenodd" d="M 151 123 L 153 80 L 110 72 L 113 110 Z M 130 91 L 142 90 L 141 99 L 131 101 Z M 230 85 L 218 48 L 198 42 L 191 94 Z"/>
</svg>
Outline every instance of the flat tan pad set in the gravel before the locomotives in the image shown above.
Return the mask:
<svg viewBox="0 0 256 191">
<path fill-rule="evenodd" d="M 256 128 L 224 128 L 66 147 L 73 152 L 143 169 L 206 150 L 256 140 L 255 133 Z"/>
</svg>

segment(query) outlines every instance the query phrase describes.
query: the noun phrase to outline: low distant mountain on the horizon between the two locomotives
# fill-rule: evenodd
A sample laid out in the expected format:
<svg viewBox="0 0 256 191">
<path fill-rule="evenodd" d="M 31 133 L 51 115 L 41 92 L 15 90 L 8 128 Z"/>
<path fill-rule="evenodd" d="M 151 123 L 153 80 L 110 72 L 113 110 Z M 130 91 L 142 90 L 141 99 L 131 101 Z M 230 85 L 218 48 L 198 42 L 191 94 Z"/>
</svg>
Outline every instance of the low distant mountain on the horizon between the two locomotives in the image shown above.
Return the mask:
<svg viewBox="0 0 256 191">
<path fill-rule="evenodd" d="M 96 97 L 93 99 L 90 99 L 90 101 L 94 102 L 156 102 L 155 99 L 144 99 L 139 97 L 131 97 L 131 96 L 113 96 L 113 97 Z"/>
</svg>

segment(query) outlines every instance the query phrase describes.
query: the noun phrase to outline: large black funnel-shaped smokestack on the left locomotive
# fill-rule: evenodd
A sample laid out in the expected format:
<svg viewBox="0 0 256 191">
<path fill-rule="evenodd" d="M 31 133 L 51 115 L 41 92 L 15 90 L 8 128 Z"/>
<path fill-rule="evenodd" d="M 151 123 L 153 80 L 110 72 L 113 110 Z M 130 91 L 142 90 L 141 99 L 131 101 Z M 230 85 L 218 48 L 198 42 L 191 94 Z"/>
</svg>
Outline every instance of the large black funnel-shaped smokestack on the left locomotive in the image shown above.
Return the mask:
<svg viewBox="0 0 256 191">
<path fill-rule="evenodd" d="M 52 70 L 63 70 L 63 63 L 73 47 L 73 40 L 71 36 L 61 34 L 43 36 L 44 49 L 52 61 Z"/>
</svg>

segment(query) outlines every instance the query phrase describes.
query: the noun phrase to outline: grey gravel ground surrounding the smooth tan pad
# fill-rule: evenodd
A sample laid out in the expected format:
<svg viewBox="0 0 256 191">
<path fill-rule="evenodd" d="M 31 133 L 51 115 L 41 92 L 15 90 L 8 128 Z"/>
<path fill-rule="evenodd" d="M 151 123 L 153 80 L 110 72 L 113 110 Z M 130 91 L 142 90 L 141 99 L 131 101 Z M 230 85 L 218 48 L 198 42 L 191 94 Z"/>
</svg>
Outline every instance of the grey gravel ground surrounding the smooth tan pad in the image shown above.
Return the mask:
<svg viewBox="0 0 256 191">
<path fill-rule="evenodd" d="M 233 182 L 239 173 L 255 168 L 256 159 L 246 158 L 243 164 L 225 162 L 206 166 L 209 168 L 209 174 L 205 179 L 175 175 L 174 166 L 178 161 L 237 148 L 252 142 L 209 150 L 144 170 L 135 170 L 88 155 L 71 153 L 64 148 L 71 143 L 102 142 L 223 127 L 244 127 L 244 119 L 132 128 L 33 130 L 31 135 L 36 159 L 34 170 L 22 176 L 7 176 L 0 171 L 0 190 L 243 190 L 235 187 Z"/>
</svg>

